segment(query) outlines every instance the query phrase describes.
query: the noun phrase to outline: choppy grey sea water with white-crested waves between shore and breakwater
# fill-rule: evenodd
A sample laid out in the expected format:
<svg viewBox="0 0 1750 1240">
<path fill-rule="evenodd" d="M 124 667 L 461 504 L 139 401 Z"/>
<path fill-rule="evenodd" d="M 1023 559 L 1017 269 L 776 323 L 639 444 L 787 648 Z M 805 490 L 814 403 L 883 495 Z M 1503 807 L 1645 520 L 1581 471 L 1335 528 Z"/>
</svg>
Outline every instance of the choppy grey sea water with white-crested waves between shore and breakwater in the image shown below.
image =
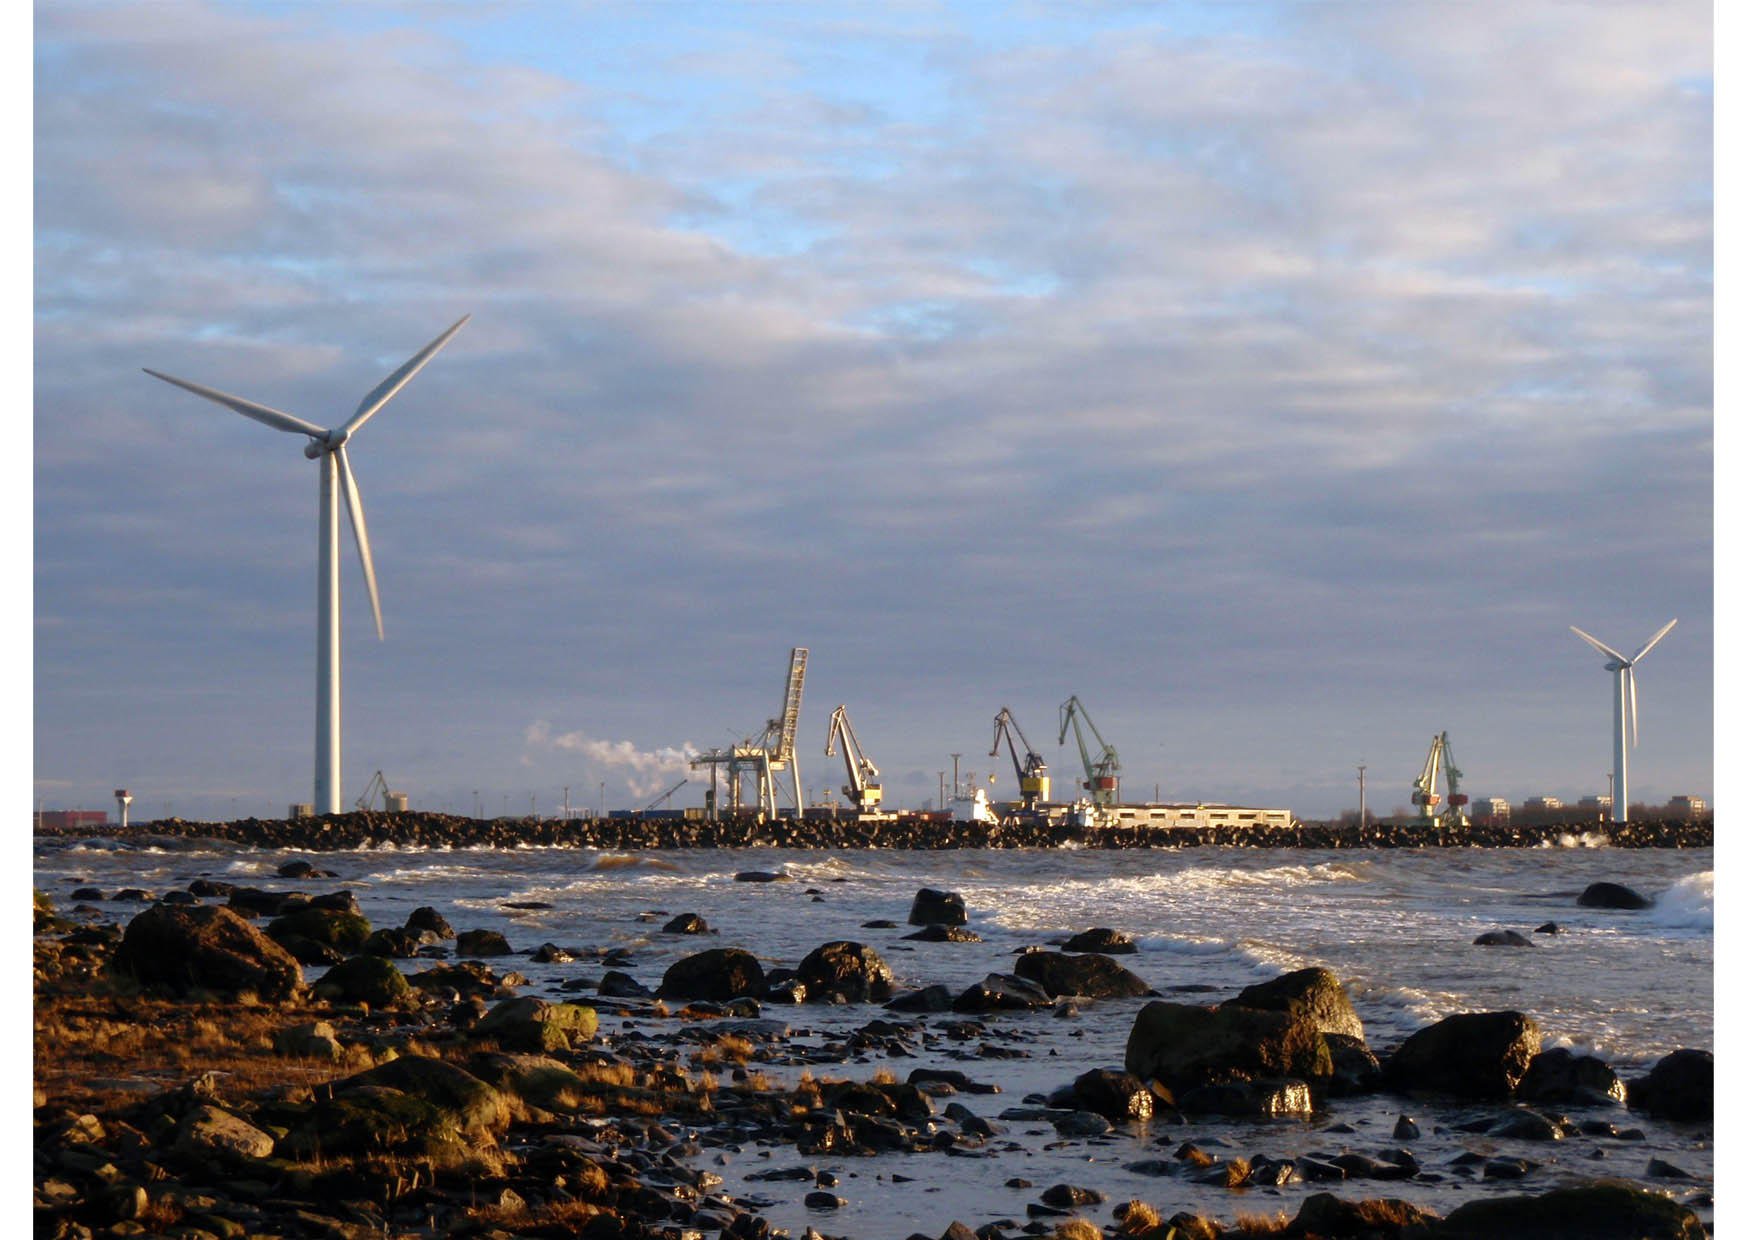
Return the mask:
<svg viewBox="0 0 1750 1240">
<path fill-rule="evenodd" d="M 1241 986 L 1288 969 L 1320 964 L 1334 969 L 1349 990 L 1376 1051 L 1388 1051 L 1416 1028 L 1461 1011 L 1517 1009 L 1533 1016 L 1545 1046 L 1598 1055 L 1624 1077 L 1645 1072 L 1678 1048 L 1713 1049 L 1713 853 L 1712 850 L 1615 850 L 1589 846 L 1484 850 L 674 850 L 612 853 L 574 848 L 514 850 L 355 850 L 304 853 L 250 850 L 203 841 L 163 841 L 159 846 L 119 846 L 112 841 L 38 841 L 37 885 L 65 906 L 74 885 L 105 890 L 145 887 L 163 892 L 198 876 L 238 885 L 298 890 L 350 888 L 374 925 L 399 925 L 415 908 L 438 908 L 455 929 L 495 929 L 511 946 L 528 951 L 542 943 L 567 948 L 625 948 L 625 967 L 653 990 L 682 955 L 707 946 L 740 946 L 766 967 L 794 965 L 816 946 L 852 939 L 873 946 L 905 986 L 945 983 L 952 990 L 1006 972 L 1015 953 L 1045 946 L 1066 934 L 1111 927 L 1138 941 L 1120 962 L 1167 997 L 1216 1002 Z M 336 878 L 276 878 L 287 860 L 310 860 Z M 782 881 L 735 881 L 742 871 L 780 873 Z M 1592 881 L 1626 883 L 1656 904 L 1645 911 L 1587 909 L 1575 899 Z M 910 943 L 905 925 L 920 887 L 956 890 L 966 899 L 968 929 L 982 943 Z M 513 909 L 508 904 L 550 904 Z M 105 906 L 122 916 L 126 906 Z M 662 934 L 676 913 L 698 913 L 716 934 Z M 898 929 L 868 929 L 891 920 Z M 1559 934 L 1533 934 L 1554 922 Z M 1482 948 L 1484 930 L 1512 929 L 1531 948 Z M 536 965 L 508 958 L 532 979 L 534 993 L 558 997 L 558 986 L 598 976 L 588 960 Z M 402 962 L 420 969 L 425 962 Z M 1208 990 L 1204 990 L 1208 988 Z M 567 995 L 572 997 L 572 995 Z M 919 1058 L 847 1063 L 816 1069 L 817 1076 L 866 1079 L 889 1067 L 905 1079 L 912 1067 L 959 1067 L 973 1079 L 1003 1088 L 1001 1095 L 959 1098 L 990 1118 L 1013 1142 L 992 1158 L 884 1154 L 878 1158 L 803 1160 L 791 1149 L 747 1147 L 723 1154 L 707 1147 L 704 1165 L 723 1175 L 726 1189 L 760 1196 L 765 1214 L 800 1235 L 817 1226 L 836 1235 L 938 1235 L 961 1219 L 973 1226 L 1008 1217 L 1026 1221 L 1026 1203 L 1054 1182 L 1097 1188 L 1108 1196 L 1090 1210 L 1101 1221 L 1113 1203 L 1132 1196 L 1164 1214 L 1195 1209 L 1232 1221 L 1237 1210 L 1290 1216 L 1311 1191 L 1325 1186 L 1284 1186 L 1232 1195 L 1183 1179 L 1150 1179 L 1125 1163 L 1166 1158 L 1180 1139 L 1228 1142 L 1213 1146 L 1220 1158 L 1251 1153 L 1292 1156 L 1321 1149 L 1356 1149 L 1377 1156 L 1400 1111 L 1418 1114 L 1428 1133 L 1414 1153 L 1426 1170 L 1460 1153 L 1507 1154 L 1540 1163 L 1526 1181 L 1500 1184 L 1449 1177 L 1435 1184 L 1348 1184 L 1346 1196 L 1404 1196 L 1435 1210 L 1496 1191 L 1536 1191 L 1580 1177 L 1624 1175 L 1650 1188 L 1648 1158 L 1659 1156 L 1712 1182 L 1712 1126 L 1662 1125 L 1614 1109 L 1598 1116 L 1619 1126 L 1640 1126 L 1647 1142 L 1575 1139 L 1535 1147 L 1526 1142 L 1465 1137 L 1454 1130 L 1466 1116 L 1491 1114 L 1461 1107 L 1430 1107 L 1405 1098 L 1339 1100 L 1332 1114 L 1311 1125 L 1199 1125 L 1138 1128 L 1102 1140 L 1059 1142 L 1041 1123 L 999 1121 L 1004 1107 L 1027 1093 L 1068 1084 L 1094 1067 L 1122 1067 L 1124 1042 L 1144 999 L 1097 1000 L 1073 1018 L 1050 1013 L 1001 1014 L 994 1030 L 1022 1034 L 1015 1060 L 966 1062 Z M 875 1006 L 782 1007 L 766 1016 L 793 1028 L 798 1048 L 844 1035 L 875 1016 Z M 945 1018 L 929 1018 L 940 1021 Z M 672 1028 L 672 1021 L 668 1021 Z M 660 1021 L 649 1028 L 658 1032 Z M 961 1051 L 962 1055 L 966 1051 Z M 786 1079 L 782 1070 L 774 1072 Z M 791 1074 L 793 1076 L 793 1074 Z M 1354 1135 L 1325 1137 L 1321 1128 L 1344 1121 Z M 1438 1133 L 1430 1132 L 1438 1128 Z M 1171 1137 L 1162 1149 L 1152 1144 Z M 998 1146 L 999 1142 L 992 1142 Z M 1592 1156 L 1601 1149 L 1603 1156 Z M 1435 1160 L 1435 1161 L 1430 1161 Z M 849 1205 L 831 1214 L 802 1207 L 810 1184 L 747 1182 L 744 1177 L 812 1161 L 833 1168 L 835 1189 Z M 894 1184 L 891 1177 L 912 1177 Z M 1026 1177 L 1036 1188 L 1003 1182 Z M 1696 1186 L 1684 1186 L 1692 1191 Z M 1706 1210 L 1703 1210 L 1706 1217 Z"/>
</svg>

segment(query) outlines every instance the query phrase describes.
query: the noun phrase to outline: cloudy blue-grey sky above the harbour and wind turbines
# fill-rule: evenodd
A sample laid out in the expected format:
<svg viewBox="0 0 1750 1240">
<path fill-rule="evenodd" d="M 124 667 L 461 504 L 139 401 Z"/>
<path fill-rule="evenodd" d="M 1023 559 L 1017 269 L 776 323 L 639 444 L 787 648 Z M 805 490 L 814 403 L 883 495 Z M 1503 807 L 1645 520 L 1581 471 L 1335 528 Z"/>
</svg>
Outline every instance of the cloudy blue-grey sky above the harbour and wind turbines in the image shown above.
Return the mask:
<svg viewBox="0 0 1750 1240">
<path fill-rule="evenodd" d="M 1710 5 L 40 5 L 35 782 L 642 805 L 810 647 L 889 801 L 1713 791 Z M 604 787 L 606 785 L 606 787 Z M 695 780 L 677 803 L 698 801 Z"/>
</svg>

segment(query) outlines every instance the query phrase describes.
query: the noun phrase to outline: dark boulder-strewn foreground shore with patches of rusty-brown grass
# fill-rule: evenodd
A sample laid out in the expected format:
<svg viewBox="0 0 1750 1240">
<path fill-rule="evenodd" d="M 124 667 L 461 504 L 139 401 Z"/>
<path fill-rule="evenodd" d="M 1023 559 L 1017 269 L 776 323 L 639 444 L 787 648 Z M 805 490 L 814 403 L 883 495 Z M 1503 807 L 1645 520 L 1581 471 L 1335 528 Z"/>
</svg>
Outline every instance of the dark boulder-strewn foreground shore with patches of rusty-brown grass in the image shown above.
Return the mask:
<svg viewBox="0 0 1750 1240">
<path fill-rule="evenodd" d="M 1516 1182 L 1536 1170 L 1510 1153 L 1524 1142 L 1634 1149 L 1645 1123 L 1710 1140 L 1706 1051 L 1622 1081 L 1596 1058 L 1542 1051 L 1536 1021 L 1512 1011 L 1451 1014 L 1372 1048 L 1325 969 L 1225 997 L 1158 993 L 1125 967 L 1134 944 L 1113 929 L 1040 944 L 964 990 L 905 992 L 877 951 L 850 941 L 763 967 L 716 946 L 733 943 L 724 929 L 653 985 L 630 976 L 620 950 L 542 944 L 532 960 L 600 969 L 548 1000 L 523 993 L 497 936 L 457 934 L 434 908 L 373 925 L 350 892 L 298 890 L 322 881 L 306 862 L 280 878 L 276 888 L 198 878 L 133 904 L 124 925 L 91 904 L 58 915 L 38 897 L 37 1235 L 760 1240 L 782 1235 L 766 1217 L 782 1193 L 803 1193 L 831 1230 L 858 1160 L 1020 1165 L 1029 1133 L 1088 1149 L 1146 1140 L 1158 1154 L 1129 1170 L 1160 1193 L 1108 1202 L 1085 1184 L 1012 1175 L 1015 1203 L 990 1209 L 1001 1217 L 976 1230 L 942 1219 L 922 1240 L 1706 1235 L 1692 1209 L 1710 1200 L 1699 1177 L 1657 1158 L 1645 1179 L 1682 1200 L 1572 1175 L 1542 1193 L 1480 1193 L 1444 1216 L 1388 1196 L 1435 1181 Z M 1629 908 L 1634 894 L 1619 892 L 1591 894 Z M 920 890 L 906 920 L 924 941 L 954 941 L 964 901 Z M 712 929 L 682 913 L 663 932 Z M 1076 1065 L 1060 1034 L 1073 1025 L 1050 1016 L 1120 997 L 1148 1000 L 1122 1070 Z M 803 1048 L 793 1027 L 821 1004 L 864 1007 L 868 1020 Z M 992 1118 L 964 1105 L 1001 1093 L 1003 1062 L 1031 1055 L 1029 1042 L 1052 1056 L 1064 1048 L 1059 1088 Z M 906 1070 L 906 1058 L 943 1048 L 964 1069 Z M 1381 1100 L 1405 1111 L 1388 1146 L 1346 1121 Z M 1430 1161 L 1428 1111 L 1496 1153 Z M 1270 1149 L 1236 1142 L 1260 1121 L 1283 1121 Z M 760 1158 L 763 1170 L 746 1174 Z M 732 1172 L 738 1193 L 724 1186 Z M 861 1181 L 861 1191 L 903 1193 L 908 1179 L 892 1172 L 892 1188 Z M 1246 1196 L 1284 1186 L 1307 1189 L 1293 1216 L 1258 1214 Z M 1232 1221 L 1169 1205 L 1194 1188 L 1232 1195 Z"/>
</svg>

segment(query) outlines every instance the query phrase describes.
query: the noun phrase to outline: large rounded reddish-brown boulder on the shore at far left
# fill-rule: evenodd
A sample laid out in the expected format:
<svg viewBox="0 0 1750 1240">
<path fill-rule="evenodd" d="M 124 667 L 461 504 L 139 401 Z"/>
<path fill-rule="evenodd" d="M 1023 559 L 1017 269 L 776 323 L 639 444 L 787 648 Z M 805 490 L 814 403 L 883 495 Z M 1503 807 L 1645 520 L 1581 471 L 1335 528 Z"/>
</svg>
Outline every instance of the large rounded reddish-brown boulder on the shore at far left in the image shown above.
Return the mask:
<svg viewBox="0 0 1750 1240">
<path fill-rule="evenodd" d="M 298 960 L 228 908 L 158 904 L 128 923 L 112 962 L 142 986 L 184 995 L 208 990 L 268 1002 L 301 985 Z"/>
</svg>

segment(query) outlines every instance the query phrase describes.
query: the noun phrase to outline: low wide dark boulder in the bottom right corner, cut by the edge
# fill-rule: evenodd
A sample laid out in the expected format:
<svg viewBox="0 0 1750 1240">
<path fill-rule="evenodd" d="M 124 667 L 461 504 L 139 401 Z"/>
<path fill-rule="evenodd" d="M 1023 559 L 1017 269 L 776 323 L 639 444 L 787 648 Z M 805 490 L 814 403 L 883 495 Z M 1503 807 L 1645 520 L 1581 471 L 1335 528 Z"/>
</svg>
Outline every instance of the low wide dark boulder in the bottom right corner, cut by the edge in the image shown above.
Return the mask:
<svg viewBox="0 0 1750 1240">
<path fill-rule="evenodd" d="M 1559 1188 L 1536 1196 L 1465 1202 L 1432 1230 L 1440 1240 L 1703 1240 L 1694 1210 L 1615 1181 Z"/>
</svg>

